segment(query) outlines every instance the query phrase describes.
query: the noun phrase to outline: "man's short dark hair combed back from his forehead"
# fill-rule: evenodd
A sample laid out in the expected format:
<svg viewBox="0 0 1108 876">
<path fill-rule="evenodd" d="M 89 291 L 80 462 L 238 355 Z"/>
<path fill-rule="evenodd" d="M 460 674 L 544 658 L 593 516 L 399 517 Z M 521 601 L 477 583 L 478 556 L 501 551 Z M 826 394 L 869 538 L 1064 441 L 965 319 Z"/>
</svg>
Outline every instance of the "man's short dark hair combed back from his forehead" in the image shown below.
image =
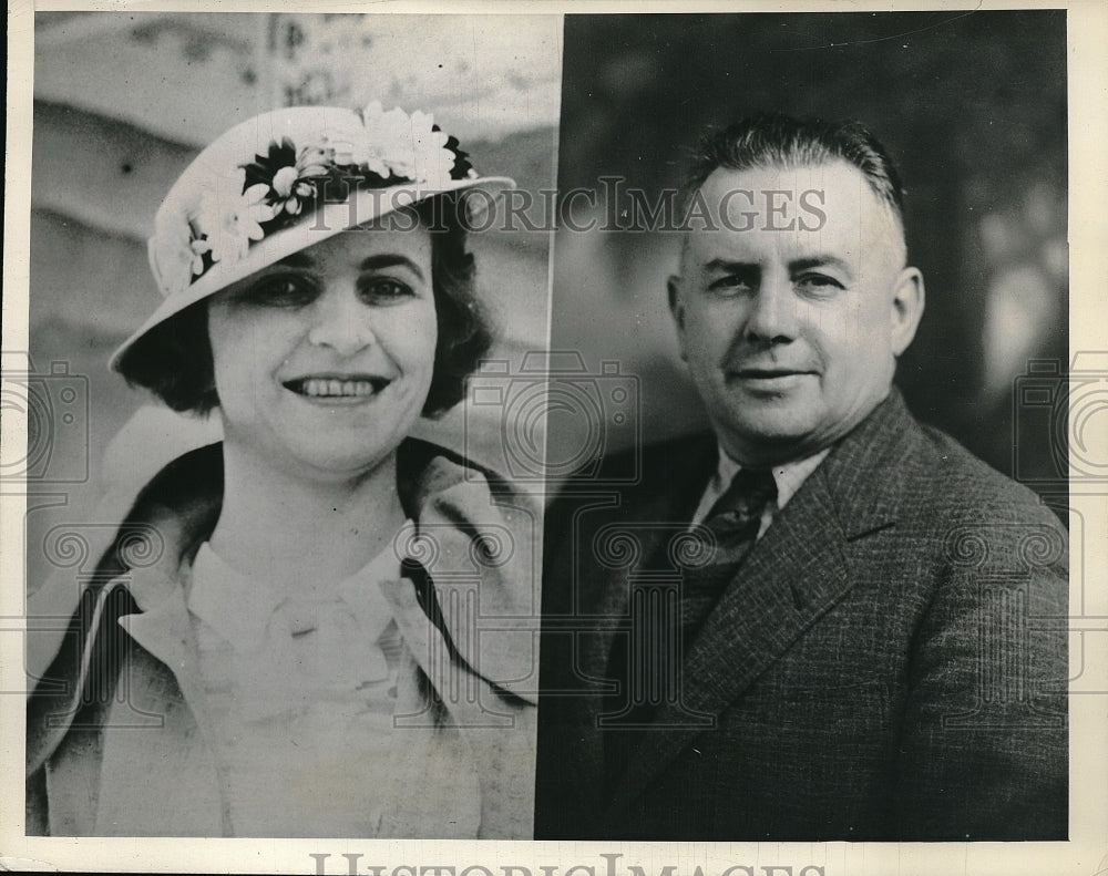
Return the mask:
<svg viewBox="0 0 1108 876">
<path fill-rule="evenodd" d="M 688 210 L 697 190 L 718 167 L 791 169 L 833 161 L 856 167 L 903 226 L 904 190 L 900 174 L 869 128 L 860 122 L 796 118 L 783 113 L 759 113 L 706 133 L 681 186 L 683 209 Z"/>
</svg>

